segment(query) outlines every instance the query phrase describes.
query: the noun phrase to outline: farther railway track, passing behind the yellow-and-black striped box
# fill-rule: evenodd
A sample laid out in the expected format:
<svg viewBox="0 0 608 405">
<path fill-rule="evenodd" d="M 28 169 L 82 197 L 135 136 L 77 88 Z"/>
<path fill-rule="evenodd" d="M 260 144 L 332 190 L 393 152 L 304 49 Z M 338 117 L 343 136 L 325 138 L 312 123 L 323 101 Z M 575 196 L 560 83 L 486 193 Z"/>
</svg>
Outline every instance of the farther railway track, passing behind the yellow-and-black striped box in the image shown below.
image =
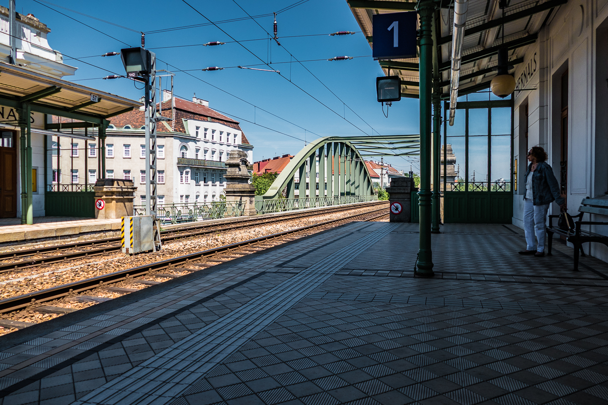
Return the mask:
<svg viewBox="0 0 608 405">
<path fill-rule="evenodd" d="M 356 208 L 365 208 L 366 206 L 383 204 L 385 204 L 385 202 L 358 204 L 356 205 Z M 187 226 L 184 228 L 176 228 L 174 230 L 162 231 L 161 240 L 163 242 L 171 242 L 173 240 L 202 236 L 215 232 L 233 231 L 245 228 L 252 228 L 254 226 L 265 225 L 268 223 L 276 223 L 281 221 L 294 220 L 311 216 L 319 216 L 330 213 L 339 213 L 341 211 L 347 211 L 350 209 L 353 209 L 353 205 L 340 206 L 338 208 L 321 209 L 315 211 L 306 211 L 305 213 L 297 213 L 291 215 L 284 214 L 280 216 L 253 217 L 247 219 L 243 219 L 243 217 L 240 217 L 240 219 L 223 221 L 221 223 L 201 223 L 200 225 L 196 226 Z M 113 253 L 120 250 L 120 237 L 114 237 L 107 239 L 91 240 L 87 242 L 74 242 L 66 243 L 64 245 L 54 245 L 49 247 L 5 252 L 0 253 L 0 274 L 6 273 L 7 271 L 22 270 L 26 268 L 58 263 L 82 257 L 86 258 L 91 256 L 98 256 L 100 254 Z"/>
</svg>

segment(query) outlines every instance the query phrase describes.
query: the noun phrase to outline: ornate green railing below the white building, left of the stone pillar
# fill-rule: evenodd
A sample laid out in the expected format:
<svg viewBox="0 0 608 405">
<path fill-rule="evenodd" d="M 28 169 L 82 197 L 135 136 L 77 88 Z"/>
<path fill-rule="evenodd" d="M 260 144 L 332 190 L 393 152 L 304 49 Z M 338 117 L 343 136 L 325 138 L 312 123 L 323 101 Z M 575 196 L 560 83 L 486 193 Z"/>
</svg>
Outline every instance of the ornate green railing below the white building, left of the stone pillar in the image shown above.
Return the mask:
<svg viewBox="0 0 608 405">
<path fill-rule="evenodd" d="M 157 207 L 157 217 L 162 224 L 197 222 L 207 219 L 241 217 L 245 205 L 242 202 L 213 201 L 208 203 L 162 204 Z M 133 207 L 134 215 L 145 215 L 145 205 Z"/>
</svg>

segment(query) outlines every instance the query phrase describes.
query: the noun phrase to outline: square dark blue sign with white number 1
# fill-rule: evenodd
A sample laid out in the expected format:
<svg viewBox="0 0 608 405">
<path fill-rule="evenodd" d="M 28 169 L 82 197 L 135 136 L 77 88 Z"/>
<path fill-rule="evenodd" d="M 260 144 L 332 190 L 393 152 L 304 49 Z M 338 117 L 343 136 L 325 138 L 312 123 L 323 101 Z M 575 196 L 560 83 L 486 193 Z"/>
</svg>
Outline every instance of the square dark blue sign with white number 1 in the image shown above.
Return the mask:
<svg viewBox="0 0 608 405">
<path fill-rule="evenodd" d="M 416 56 L 416 12 L 373 15 L 373 58 Z"/>
</svg>

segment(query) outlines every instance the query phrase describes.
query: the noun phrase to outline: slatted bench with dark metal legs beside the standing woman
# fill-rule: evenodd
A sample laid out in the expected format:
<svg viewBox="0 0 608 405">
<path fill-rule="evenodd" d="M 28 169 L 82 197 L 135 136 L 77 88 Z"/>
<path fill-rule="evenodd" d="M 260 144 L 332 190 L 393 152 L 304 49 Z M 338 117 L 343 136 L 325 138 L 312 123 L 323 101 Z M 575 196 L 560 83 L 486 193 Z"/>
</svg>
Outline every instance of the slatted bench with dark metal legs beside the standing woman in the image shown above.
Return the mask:
<svg viewBox="0 0 608 405">
<path fill-rule="evenodd" d="M 598 221 L 583 221 L 582 216 L 587 214 L 598 214 L 608 216 L 608 199 L 590 199 L 587 197 L 582 200 L 581 206 L 578 209 L 579 214 L 573 216 L 575 220 L 574 230 L 561 230 L 558 226 L 553 226 L 553 220 L 559 218 L 559 215 L 549 216 L 549 226 L 547 228 L 547 236 L 549 237 L 548 253 L 551 254 L 551 245 L 553 242 L 553 234 L 564 236 L 568 242 L 574 245 L 574 270 L 578 271 L 578 257 L 579 252 L 582 256 L 585 256 L 585 252 L 582 250 L 582 244 L 586 242 L 599 242 L 604 243 L 608 246 L 608 236 L 594 233 L 591 231 L 581 230 L 581 225 L 608 225 L 608 222 Z M 578 219 L 578 220 L 577 220 Z"/>
</svg>

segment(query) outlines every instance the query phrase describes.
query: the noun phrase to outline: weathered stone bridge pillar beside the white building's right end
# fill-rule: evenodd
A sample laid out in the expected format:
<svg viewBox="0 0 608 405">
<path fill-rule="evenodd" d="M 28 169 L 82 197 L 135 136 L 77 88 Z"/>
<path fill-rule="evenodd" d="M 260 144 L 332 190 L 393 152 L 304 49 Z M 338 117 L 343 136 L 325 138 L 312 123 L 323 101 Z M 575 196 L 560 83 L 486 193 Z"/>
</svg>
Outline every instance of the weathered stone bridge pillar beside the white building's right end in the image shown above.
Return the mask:
<svg viewBox="0 0 608 405">
<path fill-rule="evenodd" d="M 255 215 L 255 186 L 249 184 L 247 154 L 243 151 L 231 151 L 226 166 L 226 202 L 241 202 L 245 216 Z"/>
</svg>

